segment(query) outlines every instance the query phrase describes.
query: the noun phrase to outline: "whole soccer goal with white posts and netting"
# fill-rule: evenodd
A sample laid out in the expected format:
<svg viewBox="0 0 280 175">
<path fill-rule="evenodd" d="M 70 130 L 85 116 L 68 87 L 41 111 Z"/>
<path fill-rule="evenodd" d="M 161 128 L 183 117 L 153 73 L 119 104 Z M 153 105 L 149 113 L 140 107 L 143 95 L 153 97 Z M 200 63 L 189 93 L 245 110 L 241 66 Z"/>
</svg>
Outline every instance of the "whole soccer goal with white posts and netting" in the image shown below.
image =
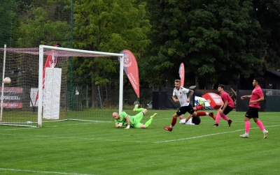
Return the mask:
<svg viewBox="0 0 280 175">
<path fill-rule="evenodd" d="M 45 45 L 0 48 L 0 58 L 5 60 L 0 62 L 0 77 L 11 79 L 10 84 L 0 87 L 3 91 L 0 124 L 41 127 L 49 121 L 112 121 L 112 112 L 123 110 L 123 56 Z M 117 83 L 97 86 L 97 90 L 92 84 L 75 84 L 78 81 L 73 78 L 82 77 L 73 77 L 72 59 L 96 57 L 120 60 Z M 106 104 L 102 102 L 104 98 Z M 91 105 L 94 100 L 97 107 Z"/>
</svg>

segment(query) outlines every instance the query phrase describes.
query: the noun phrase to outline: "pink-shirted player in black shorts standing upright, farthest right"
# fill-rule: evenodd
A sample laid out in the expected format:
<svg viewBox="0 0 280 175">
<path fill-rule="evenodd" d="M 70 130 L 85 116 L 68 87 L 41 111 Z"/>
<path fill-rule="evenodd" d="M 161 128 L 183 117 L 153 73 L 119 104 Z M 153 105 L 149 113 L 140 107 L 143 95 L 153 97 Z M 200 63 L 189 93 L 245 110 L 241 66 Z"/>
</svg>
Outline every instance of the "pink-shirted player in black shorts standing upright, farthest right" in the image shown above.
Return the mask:
<svg viewBox="0 0 280 175">
<path fill-rule="evenodd" d="M 249 130 L 250 130 L 250 119 L 253 118 L 255 123 L 257 123 L 260 130 L 262 130 L 263 138 L 267 138 L 268 131 L 265 130 L 265 127 L 263 126 L 260 119 L 258 119 L 258 109 L 260 109 L 260 101 L 264 100 L 262 89 L 260 88 L 260 79 L 255 78 L 253 80 L 253 86 L 255 86 L 255 89 L 253 89 L 251 96 L 241 96 L 241 99 L 244 98 L 250 98 L 249 101 L 249 109 L 246 112 L 245 115 L 245 134 L 240 135 L 241 138 L 248 138 L 249 137 Z"/>
</svg>

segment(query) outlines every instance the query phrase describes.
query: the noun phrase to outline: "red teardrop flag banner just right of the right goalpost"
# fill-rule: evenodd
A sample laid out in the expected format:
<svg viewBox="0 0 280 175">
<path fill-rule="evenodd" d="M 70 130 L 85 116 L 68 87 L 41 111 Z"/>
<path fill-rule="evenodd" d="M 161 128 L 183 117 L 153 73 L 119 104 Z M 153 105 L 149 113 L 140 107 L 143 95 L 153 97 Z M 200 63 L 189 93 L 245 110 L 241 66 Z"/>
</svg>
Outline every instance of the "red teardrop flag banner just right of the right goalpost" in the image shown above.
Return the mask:
<svg viewBox="0 0 280 175">
<path fill-rule="evenodd" d="M 123 50 L 120 54 L 124 54 L 123 58 L 123 70 L 127 74 L 128 79 L 130 79 L 130 84 L 137 94 L 137 97 L 140 98 L 140 89 L 139 89 L 139 72 L 138 72 L 138 64 L 135 59 L 134 54 L 130 52 L 130 50 Z M 120 60 L 119 60 L 120 61 Z"/>
</svg>

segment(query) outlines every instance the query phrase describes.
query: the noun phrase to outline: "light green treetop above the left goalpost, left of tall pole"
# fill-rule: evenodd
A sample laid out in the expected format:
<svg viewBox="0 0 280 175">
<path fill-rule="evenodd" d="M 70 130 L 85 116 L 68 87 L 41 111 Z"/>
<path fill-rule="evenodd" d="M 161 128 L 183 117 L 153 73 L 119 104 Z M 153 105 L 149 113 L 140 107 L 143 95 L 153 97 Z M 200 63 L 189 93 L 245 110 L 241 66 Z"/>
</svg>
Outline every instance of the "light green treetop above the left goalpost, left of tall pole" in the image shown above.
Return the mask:
<svg viewBox="0 0 280 175">
<path fill-rule="evenodd" d="M 21 15 L 16 35 L 17 47 L 38 47 L 60 43 L 69 47 L 70 42 L 70 8 L 66 0 L 33 1 Z"/>
</svg>

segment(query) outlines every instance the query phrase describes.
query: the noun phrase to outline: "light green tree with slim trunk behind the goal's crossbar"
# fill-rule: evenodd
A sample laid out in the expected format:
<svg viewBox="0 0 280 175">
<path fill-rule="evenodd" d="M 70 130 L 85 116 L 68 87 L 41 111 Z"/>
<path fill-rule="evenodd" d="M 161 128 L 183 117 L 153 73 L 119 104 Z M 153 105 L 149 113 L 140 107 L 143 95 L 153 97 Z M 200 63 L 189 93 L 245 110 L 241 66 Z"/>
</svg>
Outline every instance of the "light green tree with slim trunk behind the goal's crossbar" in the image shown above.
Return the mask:
<svg viewBox="0 0 280 175">
<path fill-rule="evenodd" d="M 150 43 L 147 32 L 151 26 L 146 20 L 145 6 L 146 3 L 134 0 L 75 1 L 74 47 L 115 53 L 127 49 L 139 59 Z M 90 77 L 85 82 L 92 84 L 92 106 L 95 107 L 97 85 L 106 86 L 109 75 L 118 74 L 118 60 L 83 59 L 79 65 L 75 75 Z"/>
</svg>

